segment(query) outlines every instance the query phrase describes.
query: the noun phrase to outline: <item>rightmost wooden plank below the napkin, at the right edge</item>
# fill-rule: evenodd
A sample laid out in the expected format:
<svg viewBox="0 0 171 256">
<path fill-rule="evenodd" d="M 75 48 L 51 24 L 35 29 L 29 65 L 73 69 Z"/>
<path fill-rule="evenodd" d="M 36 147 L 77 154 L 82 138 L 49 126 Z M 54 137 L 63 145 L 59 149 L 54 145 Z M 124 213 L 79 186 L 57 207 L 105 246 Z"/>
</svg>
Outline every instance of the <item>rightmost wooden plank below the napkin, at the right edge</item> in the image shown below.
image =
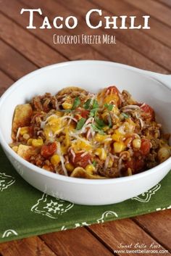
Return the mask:
<svg viewBox="0 0 171 256">
<path fill-rule="evenodd" d="M 137 216 L 133 220 L 171 251 L 171 210 Z"/>
</svg>

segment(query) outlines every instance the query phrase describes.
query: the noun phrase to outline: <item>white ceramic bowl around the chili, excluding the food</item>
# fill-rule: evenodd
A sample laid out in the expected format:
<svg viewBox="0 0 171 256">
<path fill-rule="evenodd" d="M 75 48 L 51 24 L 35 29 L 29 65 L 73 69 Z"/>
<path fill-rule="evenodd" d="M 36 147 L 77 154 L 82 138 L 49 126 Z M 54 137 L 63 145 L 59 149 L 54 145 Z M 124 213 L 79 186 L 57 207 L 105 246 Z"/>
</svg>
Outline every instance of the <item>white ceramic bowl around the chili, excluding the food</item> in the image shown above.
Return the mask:
<svg viewBox="0 0 171 256">
<path fill-rule="evenodd" d="M 64 62 L 36 70 L 12 85 L 0 100 L 0 141 L 18 173 L 36 189 L 81 205 L 108 205 L 147 191 L 167 175 L 171 157 L 151 170 L 124 178 L 88 180 L 50 173 L 23 160 L 9 147 L 12 115 L 17 104 L 33 96 L 56 94 L 66 86 L 80 86 L 96 92 L 116 85 L 127 89 L 141 102 L 154 108 L 165 132 L 171 131 L 171 75 L 160 75 L 134 67 L 102 61 Z"/>
</svg>

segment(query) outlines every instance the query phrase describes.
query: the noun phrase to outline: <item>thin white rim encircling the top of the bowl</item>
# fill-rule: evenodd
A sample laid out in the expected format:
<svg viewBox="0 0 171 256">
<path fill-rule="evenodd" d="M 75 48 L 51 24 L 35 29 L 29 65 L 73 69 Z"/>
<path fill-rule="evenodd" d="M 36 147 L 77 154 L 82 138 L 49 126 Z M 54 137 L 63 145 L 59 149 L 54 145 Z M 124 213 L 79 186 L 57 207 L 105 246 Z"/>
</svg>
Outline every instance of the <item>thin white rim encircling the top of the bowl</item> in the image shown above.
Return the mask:
<svg viewBox="0 0 171 256">
<path fill-rule="evenodd" d="M 33 76 L 35 76 L 35 75 L 40 75 L 41 73 L 43 73 L 44 70 L 51 70 L 51 69 L 54 69 L 54 68 L 57 68 L 57 67 L 64 67 L 66 65 L 75 65 L 75 64 L 86 63 L 86 62 L 87 63 L 88 62 L 89 63 L 90 62 L 91 63 L 96 63 L 96 65 L 99 65 L 99 64 L 100 65 L 112 65 L 112 66 L 115 66 L 115 67 L 122 67 L 126 70 L 132 70 L 133 72 L 138 73 L 139 75 L 143 75 L 146 78 L 149 78 L 151 80 L 154 80 L 157 83 L 161 83 L 162 86 L 167 87 L 167 88 L 170 89 L 170 87 L 167 86 L 165 83 L 163 83 L 161 80 L 158 80 L 157 78 L 154 78 L 151 75 L 149 75 L 148 71 L 146 71 L 146 70 L 142 70 L 142 72 L 146 71 L 147 73 L 141 73 L 141 70 L 139 70 L 136 67 L 131 67 L 131 66 L 128 66 L 128 65 L 123 65 L 123 64 L 120 64 L 120 63 L 109 62 L 109 61 L 75 60 L 75 61 L 69 61 L 69 62 L 61 62 L 61 63 L 49 65 L 49 66 L 46 66 L 46 67 L 41 67 L 38 70 L 34 70 L 33 72 L 28 73 L 27 75 L 24 75 L 22 78 L 15 81 L 12 84 L 12 86 L 10 86 L 7 89 L 7 91 L 4 92 L 4 94 L 0 98 L 0 107 L 1 107 L 1 104 L 3 103 L 3 101 L 9 96 L 9 94 L 12 94 L 13 91 L 15 91 L 15 89 L 20 87 L 22 85 L 22 83 L 25 82 L 25 80 L 28 80 L 28 79 L 32 78 Z M 104 179 L 75 178 L 75 177 L 70 177 L 70 176 L 62 176 L 58 173 L 51 173 L 48 170 L 42 170 L 42 168 L 39 168 L 38 166 L 31 164 L 27 160 L 24 160 L 22 157 L 20 157 L 18 154 L 16 154 L 10 148 L 10 146 L 7 144 L 4 137 L 2 136 L 2 133 L 0 133 L 0 143 L 1 143 L 1 146 L 3 147 L 3 149 L 5 149 L 9 155 L 14 157 L 14 160 L 17 160 L 17 162 L 20 162 L 21 165 L 24 165 L 25 168 L 29 168 L 31 170 L 34 170 L 36 173 L 41 174 L 42 176 L 46 176 L 46 177 L 49 177 L 49 178 L 54 178 L 54 180 L 64 181 L 64 182 L 68 182 L 68 183 L 99 185 L 99 184 L 111 184 L 111 183 L 134 181 L 138 178 L 143 178 L 144 176 L 149 176 L 149 175 L 151 175 L 151 173 L 155 173 L 155 172 L 159 171 L 158 169 L 165 168 L 165 167 L 167 168 L 167 165 L 171 164 L 171 157 L 170 157 L 169 159 L 167 159 L 166 161 L 157 165 L 156 167 L 151 168 L 149 170 L 145 170 L 142 173 L 134 174 L 133 176 L 126 176 L 126 177 L 119 177 L 119 178 L 107 178 L 107 179 L 106 178 L 104 178 Z"/>
</svg>

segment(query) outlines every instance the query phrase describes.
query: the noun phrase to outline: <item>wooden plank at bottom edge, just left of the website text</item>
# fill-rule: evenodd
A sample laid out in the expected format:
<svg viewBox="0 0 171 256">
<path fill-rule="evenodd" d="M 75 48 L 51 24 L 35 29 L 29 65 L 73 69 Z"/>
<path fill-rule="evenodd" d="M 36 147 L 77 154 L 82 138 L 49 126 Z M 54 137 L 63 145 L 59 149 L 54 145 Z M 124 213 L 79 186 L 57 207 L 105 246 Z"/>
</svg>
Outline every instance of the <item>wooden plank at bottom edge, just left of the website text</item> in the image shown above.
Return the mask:
<svg viewBox="0 0 171 256">
<path fill-rule="evenodd" d="M 46 234 L 41 239 L 59 256 L 113 255 L 86 228 Z"/>
</svg>

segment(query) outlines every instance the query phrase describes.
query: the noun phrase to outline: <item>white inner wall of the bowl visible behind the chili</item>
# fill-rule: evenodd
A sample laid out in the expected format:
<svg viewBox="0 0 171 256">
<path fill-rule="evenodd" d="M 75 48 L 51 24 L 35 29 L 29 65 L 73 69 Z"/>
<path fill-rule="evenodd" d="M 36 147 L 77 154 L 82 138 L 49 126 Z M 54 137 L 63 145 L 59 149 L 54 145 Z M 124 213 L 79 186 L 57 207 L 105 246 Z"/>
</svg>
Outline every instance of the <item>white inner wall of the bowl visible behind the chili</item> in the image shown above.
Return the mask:
<svg viewBox="0 0 171 256">
<path fill-rule="evenodd" d="M 157 80 L 109 62 L 67 62 L 30 73 L 18 80 L 0 102 L 0 133 L 11 142 L 12 116 L 17 104 L 46 92 L 56 94 L 66 86 L 79 86 L 91 92 L 115 85 L 130 92 L 135 99 L 154 108 L 164 131 L 171 131 L 171 91 Z"/>
</svg>

